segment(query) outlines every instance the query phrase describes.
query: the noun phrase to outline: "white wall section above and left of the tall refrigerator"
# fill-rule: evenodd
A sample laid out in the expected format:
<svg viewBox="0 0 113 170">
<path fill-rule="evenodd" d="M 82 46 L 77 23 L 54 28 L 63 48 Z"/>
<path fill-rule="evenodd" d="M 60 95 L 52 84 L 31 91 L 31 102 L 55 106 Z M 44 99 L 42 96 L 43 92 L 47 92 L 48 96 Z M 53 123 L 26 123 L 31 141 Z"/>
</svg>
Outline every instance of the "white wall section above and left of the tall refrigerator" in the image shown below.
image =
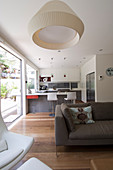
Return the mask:
<svg viewBox="0 0 113 170">
<path fill-rule="evenodd" d="M 93 56 L 88 62 L 81 66 L 81 88 L 82 88 L 82 101 L 86 102 L 86 75 L 96 72 L 96 56 Z"/>
</svg>

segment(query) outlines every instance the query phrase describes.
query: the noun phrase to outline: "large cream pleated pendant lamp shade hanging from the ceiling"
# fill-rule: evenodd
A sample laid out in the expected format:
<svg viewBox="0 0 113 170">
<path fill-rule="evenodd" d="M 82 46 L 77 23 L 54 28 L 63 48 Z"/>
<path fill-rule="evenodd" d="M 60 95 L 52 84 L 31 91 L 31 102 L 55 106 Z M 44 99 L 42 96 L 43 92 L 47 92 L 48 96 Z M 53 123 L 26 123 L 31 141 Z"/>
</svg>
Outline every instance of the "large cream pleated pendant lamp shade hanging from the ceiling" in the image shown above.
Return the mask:
<svg viewBox="0 0 113 170">
<path fill-rule="evenodd" d="M 67 4 L 54 0 L 36 13 L 28 29 L 36 45 L 59 50 L 71 47 L 80 40 L 84 24 Z"/>
</svg>

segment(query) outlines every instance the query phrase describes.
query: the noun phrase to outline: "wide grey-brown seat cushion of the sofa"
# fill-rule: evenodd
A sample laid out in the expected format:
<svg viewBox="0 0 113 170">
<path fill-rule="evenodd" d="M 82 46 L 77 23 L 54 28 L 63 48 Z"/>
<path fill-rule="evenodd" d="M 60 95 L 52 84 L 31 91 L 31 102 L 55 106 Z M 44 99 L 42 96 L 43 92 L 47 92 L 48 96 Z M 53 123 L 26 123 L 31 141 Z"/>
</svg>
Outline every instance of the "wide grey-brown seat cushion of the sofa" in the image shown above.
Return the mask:
<svg viewBox="0 0 113 170">
<path fill-rule="evenodd" d="M 96 121 L 94 124 L 76 125 L 74 132 L 70 132 L 69 139 L 111 139 L 113 138 L 113 120 Z"/>
</svg>

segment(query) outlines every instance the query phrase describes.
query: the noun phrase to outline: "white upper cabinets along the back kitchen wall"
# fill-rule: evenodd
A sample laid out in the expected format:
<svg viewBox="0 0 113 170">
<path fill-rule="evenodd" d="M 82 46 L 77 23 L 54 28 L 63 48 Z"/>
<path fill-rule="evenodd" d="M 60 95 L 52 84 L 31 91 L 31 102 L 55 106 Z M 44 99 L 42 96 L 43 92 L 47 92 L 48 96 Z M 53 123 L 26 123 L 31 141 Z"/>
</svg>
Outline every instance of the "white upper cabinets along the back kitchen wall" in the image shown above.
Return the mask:
<svg viewBox="0 0 113 170">
<path fill-rule="evenodd" d="M 40 69 L 41 76 L 51 76 L 52 74 L 52 82 L 80 81 L 79 68 Z M 66 77 L 64 77 L 64 74 L 66 75 Z"/>
</svg>

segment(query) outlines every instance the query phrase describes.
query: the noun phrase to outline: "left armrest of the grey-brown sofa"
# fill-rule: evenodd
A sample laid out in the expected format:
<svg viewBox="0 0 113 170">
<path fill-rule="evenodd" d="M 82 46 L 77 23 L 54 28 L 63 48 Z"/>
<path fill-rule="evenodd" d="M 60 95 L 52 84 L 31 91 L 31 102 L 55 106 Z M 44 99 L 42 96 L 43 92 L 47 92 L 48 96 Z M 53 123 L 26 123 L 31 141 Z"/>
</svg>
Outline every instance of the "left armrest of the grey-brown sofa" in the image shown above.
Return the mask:
<svg viewBox="0 0 113 170">
<path fill-rule="evenodd" d="M 56 146 L 66 145 L 68 141 L 68 129 L 62 115 L 61 106 L 56 105 L 55 109 L 55 142 Z"/>
</svg>

